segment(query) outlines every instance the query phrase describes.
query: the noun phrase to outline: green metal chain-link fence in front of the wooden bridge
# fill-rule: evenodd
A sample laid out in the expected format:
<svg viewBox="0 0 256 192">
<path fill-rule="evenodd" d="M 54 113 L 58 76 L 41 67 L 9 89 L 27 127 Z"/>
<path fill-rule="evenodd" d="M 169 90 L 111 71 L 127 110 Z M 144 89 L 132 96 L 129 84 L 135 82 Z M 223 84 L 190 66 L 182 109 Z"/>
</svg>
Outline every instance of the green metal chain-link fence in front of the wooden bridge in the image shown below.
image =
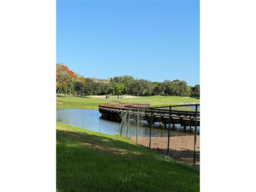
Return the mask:
<svg viewBox="0 0 256 192">
<path fill-rule="evenodd" d="M 200 165 L 200 104 L 129 108 L 117 134 L 186 164 Z"/>
</svg>

